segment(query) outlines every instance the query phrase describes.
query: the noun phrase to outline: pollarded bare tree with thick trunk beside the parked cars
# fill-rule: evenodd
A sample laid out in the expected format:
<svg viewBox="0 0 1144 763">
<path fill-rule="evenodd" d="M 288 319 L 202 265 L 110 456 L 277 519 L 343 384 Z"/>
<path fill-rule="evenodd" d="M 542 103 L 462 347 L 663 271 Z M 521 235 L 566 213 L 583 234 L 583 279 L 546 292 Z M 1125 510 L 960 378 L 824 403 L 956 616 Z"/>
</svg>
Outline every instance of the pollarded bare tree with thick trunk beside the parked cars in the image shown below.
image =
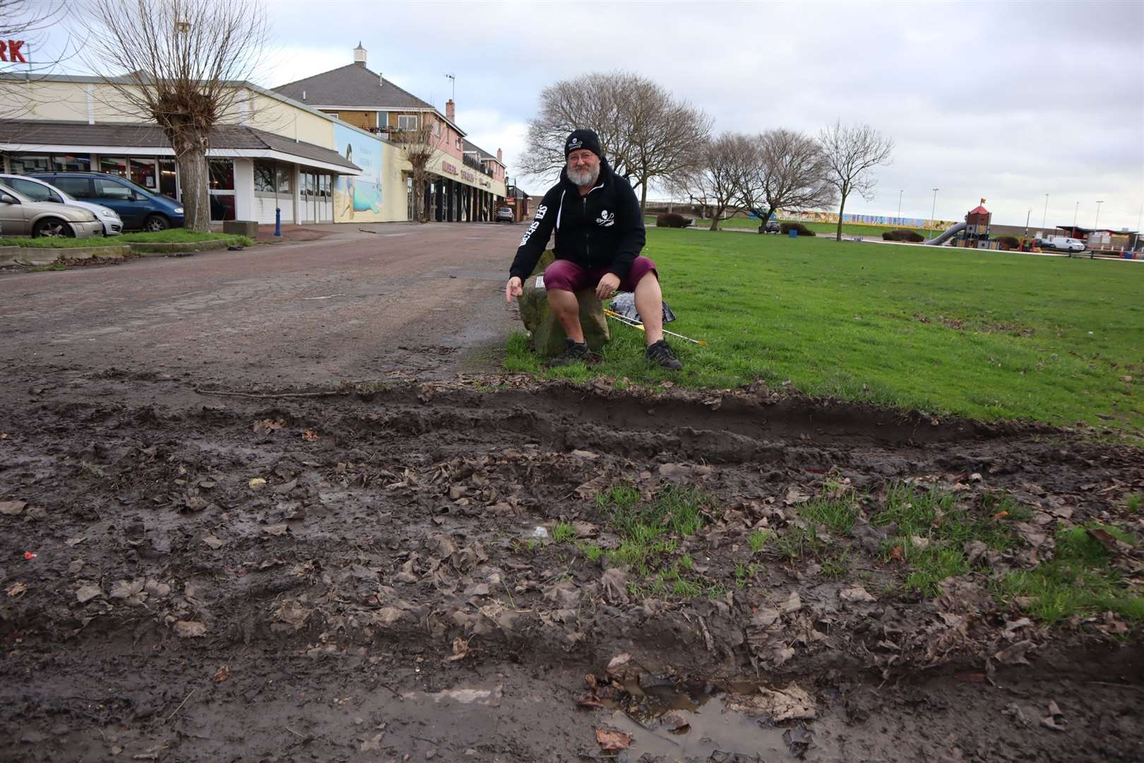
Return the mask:
<svg viewBox="0 0 1144 763">
<path fill-rule="evenodd" d="M 265 42 L 259 2 L 95 0 L 90 64 L 126 104 L 162 129 L 178 164 L 186 226 L 210 224 L 210 132 L 237 120 Z"/>
</svg>

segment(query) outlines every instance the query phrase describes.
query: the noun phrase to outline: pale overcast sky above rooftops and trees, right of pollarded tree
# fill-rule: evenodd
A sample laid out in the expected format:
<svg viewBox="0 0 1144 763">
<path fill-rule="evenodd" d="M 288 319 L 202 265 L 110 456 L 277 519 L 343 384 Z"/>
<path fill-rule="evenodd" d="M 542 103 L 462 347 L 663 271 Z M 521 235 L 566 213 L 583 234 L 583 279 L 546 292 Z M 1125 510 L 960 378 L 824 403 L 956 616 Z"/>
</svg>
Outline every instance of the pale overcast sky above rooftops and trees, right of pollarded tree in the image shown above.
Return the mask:
<svg viewBox="0 0 1144 763">
<path fill-rule="evenodd" d="M 1144 205 L 1144 2 L 351 2 L 269 0 L 275 86 L 367 65 L 444 110 L 509 174 L 540 90 L 627 70 L 716 130 L 817 133 L 841 118 L 891 136 L 876 197 L 848 212 L 1137 225 Z M 522 178 L 531 193 L 545 183 Z"/>
</svg>

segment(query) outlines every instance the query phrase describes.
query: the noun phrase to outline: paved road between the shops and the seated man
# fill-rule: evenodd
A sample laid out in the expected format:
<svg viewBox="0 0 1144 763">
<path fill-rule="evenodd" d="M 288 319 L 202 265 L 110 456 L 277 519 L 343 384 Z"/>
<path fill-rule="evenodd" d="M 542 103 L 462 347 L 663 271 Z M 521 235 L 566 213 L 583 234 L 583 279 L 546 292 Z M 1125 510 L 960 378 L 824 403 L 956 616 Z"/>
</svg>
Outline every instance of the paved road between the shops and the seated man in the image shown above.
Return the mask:
<svg viewBox="0 0 1144 763">
<path fill-rule="evenodd" d="M 333 228 L 326 238 L 0 277 L 9 371 L 119 368 L 325 384 L 495 366 L 518 226 Z"/>
</svg>

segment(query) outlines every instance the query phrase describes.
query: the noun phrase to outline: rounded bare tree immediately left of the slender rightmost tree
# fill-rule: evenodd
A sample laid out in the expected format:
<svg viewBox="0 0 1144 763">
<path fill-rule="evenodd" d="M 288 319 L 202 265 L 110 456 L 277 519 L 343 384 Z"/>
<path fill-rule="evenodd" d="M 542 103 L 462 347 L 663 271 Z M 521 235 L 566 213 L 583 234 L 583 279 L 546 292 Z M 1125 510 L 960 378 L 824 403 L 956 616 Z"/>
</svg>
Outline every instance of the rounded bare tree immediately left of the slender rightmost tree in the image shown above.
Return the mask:
<svg viewBox="0 0 1144 763">
<path fill-rule="evenodd" d="M 758 135 L 737 180 L 736 201 L 760 218 L 758 232 L 777 209 L 819 209 L 834 204 L 826 157 L 815 138 L 788 129 Z"/>
</svg>

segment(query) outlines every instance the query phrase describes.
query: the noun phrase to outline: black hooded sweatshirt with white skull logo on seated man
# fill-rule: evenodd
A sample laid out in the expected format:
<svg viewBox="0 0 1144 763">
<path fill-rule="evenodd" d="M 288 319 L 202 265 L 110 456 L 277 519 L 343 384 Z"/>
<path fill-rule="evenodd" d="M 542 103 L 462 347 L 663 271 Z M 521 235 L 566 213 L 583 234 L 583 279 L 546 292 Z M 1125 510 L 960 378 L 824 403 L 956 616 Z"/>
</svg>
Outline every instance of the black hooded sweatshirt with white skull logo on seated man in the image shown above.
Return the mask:
<svg viewBox="0 0 1144 763">
<path fill-rule="evenodd" d="M 580 196 L 580 189 L 569 180 L 567 167 L 561 170 L 561 181 L 545 193 L 537 216 L 524 231 L 510 277 L 524 280 L 532 273 L 554 229 L 557 260 L 607 268 L 620 278 L 628 275 L 646 240 L 639 200 L 606 159 L 599 160 L 599 178 L 587 196 Z"/>
</svg>

